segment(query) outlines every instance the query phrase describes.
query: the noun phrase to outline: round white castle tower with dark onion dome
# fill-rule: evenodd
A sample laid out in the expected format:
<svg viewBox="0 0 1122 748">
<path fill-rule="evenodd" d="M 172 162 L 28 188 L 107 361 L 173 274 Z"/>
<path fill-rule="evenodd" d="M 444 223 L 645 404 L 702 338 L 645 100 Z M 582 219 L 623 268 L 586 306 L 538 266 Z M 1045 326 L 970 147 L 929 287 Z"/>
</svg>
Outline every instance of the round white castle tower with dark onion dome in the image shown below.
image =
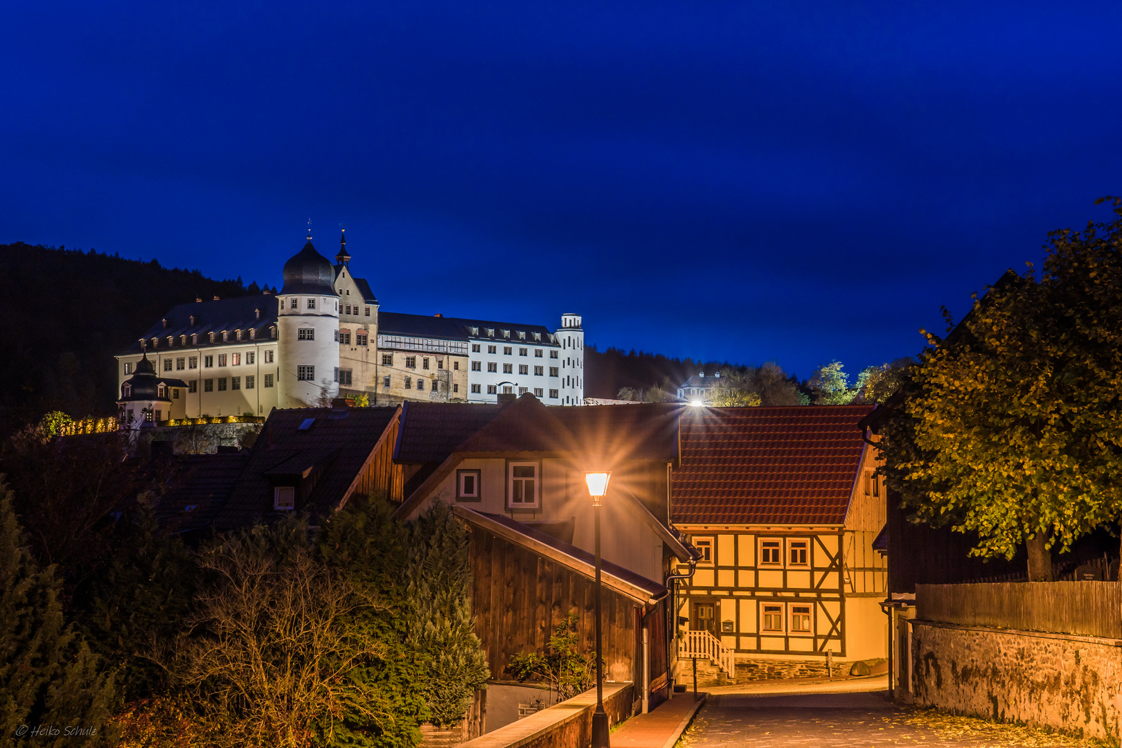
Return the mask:
<svg viewBox="0 0 1122 748">
<path fill-rule="evenodd" d="M 304 249 L 284 264 L 277 294 L 278 407 L 327 404 L 339 395 L 339 295 L 331 260 Z"/>
</svg>

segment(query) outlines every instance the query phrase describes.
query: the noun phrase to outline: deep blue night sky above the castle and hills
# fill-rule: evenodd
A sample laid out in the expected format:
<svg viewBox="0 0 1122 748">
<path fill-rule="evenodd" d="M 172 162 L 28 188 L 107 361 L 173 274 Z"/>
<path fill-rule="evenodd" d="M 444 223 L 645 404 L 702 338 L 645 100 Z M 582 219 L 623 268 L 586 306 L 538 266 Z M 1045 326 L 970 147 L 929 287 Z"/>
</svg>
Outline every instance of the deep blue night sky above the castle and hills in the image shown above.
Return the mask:
<svg viewBox="0 0 1122 748">
<path fill-rule="evenodd" d="M 10 2 L 0 241 L 279 285 L 311 218 L 384 310 L 855 372 L 1111 216 L 1072 4 Z"/>
</svg>

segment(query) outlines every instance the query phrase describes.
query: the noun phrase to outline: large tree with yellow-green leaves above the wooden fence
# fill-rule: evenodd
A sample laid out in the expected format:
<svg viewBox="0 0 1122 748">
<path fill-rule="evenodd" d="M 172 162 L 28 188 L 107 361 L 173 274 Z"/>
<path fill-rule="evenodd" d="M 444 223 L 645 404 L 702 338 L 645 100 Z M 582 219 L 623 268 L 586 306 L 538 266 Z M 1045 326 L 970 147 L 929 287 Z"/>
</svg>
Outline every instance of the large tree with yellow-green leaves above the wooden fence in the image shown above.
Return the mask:
<svg viewBox="0 0 1122 748">
<path fill-rule="evenodd" d="M 1104 200 L 1119 218 L 1051 232 L 1039 278 L 1010 270 L 946 338 L 925 332 L 880 427 L 917 518 L 977 532 L 982 556 L 1027 546 L 1031 581 L 1122 516 L 1122 198 Z"/>
</svg>

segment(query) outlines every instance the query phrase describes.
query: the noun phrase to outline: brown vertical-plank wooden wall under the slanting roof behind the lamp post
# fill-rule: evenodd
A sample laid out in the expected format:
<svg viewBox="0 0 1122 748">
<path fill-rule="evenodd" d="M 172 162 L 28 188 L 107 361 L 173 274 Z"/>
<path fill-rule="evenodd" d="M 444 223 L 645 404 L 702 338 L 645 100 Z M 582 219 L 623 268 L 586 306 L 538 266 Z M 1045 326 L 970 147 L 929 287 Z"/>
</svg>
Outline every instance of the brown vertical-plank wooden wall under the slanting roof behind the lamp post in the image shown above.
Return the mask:
<svg viewBox="0 0 1122 748">
<path fill-rule="evenodd" d="M 471 528 L 470 558 L 476 634 L 493 678 L 509 677 L 504 669 L 514 655 L 544 653 L 553 628 L 570 610 L 580 617 L 585 650 L 595 652 L 592 580 L 478 527 Z M 606 588 L 601 606 L 604 677 L 631 681 L 637 606 Z"/>
</svg>

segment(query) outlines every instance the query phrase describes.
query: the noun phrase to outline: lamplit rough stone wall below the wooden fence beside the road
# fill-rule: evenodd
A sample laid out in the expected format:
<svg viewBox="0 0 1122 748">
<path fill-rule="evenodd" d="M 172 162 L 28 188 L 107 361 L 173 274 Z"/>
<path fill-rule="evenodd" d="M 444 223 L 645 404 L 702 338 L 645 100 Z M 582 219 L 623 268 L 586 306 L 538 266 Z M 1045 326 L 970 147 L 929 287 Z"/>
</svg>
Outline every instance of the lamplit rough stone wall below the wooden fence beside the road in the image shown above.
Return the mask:
<svg viewBox="0 0 1122 748">
<path fill-rule="evenodd" d="M 1119 735 L 1122 640 L 917 620 L 916 703 L 1106 739 Z"/>
</svg>

